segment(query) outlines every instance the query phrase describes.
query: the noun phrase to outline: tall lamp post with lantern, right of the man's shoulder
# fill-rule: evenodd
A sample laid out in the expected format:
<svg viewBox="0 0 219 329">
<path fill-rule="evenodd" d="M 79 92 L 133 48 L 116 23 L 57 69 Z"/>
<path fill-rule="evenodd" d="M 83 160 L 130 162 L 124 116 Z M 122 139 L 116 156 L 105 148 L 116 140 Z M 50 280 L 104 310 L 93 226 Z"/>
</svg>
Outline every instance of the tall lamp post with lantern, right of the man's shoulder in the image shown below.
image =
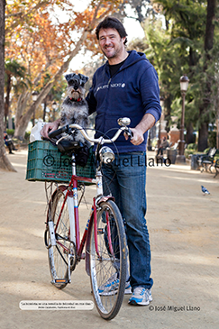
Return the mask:
<svg viewBox="0 0 219 329">
<path fill-rule="evenodd" d="M 178 162 L 186 162 L 186 157 L 184 155 L 184 122 L 185 122 L 185 98 L 187 94 L 187 86 L 189 79 L 186 75 L 182 76 L 179 79 L 180 82 L 180 90 L 181 90 L 181 96 L 182 96 L 182 114 L 181 114 L 181 124 L 180 124 L 180 135 L 179 135 L 179 142 L 178 142 Z"/>
</svg>

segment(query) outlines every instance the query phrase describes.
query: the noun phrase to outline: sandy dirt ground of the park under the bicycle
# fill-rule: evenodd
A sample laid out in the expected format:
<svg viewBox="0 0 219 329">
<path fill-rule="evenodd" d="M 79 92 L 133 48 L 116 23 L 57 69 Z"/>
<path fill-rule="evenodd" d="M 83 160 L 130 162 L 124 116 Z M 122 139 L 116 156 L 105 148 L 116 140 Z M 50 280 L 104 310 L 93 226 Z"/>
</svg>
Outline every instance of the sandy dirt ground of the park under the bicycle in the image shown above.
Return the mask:
<svg viewBox="0 0 219 329">
<path fill-rule="evenodd" d="M 152 153 L 149 153 L 151 157 Z M 9 155 L 14 172 L 0 170 L 0 328 L 218 328 L 219 327 L 219 175 L 190 166 L 148 168 L 147 222 L 151 237 L 154 286 L 150 306 L 123 299 L 111 322 L 96 311 L 22 310 L 34 301 L 92 301 L 82 260 L 63 290 L 50 284 L 43 242 L 44 183 L 25 180 L 27 151 Z M 209 196 L 201 192 L 201 185 Z M 87 187 L 87 204 L 95 192 Z M 87 207 L 83 206 L 87 220 Z"/>
</svg>

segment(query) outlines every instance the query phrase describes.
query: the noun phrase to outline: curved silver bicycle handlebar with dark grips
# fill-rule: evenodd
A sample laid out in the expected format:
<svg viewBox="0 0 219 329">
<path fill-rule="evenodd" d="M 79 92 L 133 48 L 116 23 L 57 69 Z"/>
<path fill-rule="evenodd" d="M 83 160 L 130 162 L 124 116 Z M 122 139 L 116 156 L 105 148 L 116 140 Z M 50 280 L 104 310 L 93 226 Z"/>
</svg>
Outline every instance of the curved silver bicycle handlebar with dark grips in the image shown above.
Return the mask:
<svg viewBox="0 0 219 329">
<path fill-rule="evenodd" d="M 91 138 L 87 135 L 86 131 L 77 123 L 72 123 L 72 124 L 68 124 L 68 125 L 65 125 L 61 128 L 59 128 L 58 130 L 54 131 L 54 132 L 51 132 L 49 133 L 49 137 L 50 138 L 53 138 L 55 136 L 58 136 L 60 133 L 68 133 L 69 132 L 69 128 L 70 129 L 78 129 L 80 131 L 80 133 L 82 133 L 82 135 L 85 137 L 85 139 L 88 141 L 88 142 L 101 142 L 101 143 L 112 143 L 112 142 L 115 142 L 117 140 L 117 138 L 119 137 L 119 135 L 122 133 L 122 132 L 125 132 L 127 133 L 131 138 L 132 138 L 132 131 L 129 127 L 127 127 L 126 125 L 118 128 L 117 132 L 114 134 L 114 137 L 111 138 L 110 140 L 106 140 L 104 139 L 103 137 L 99 137 L 99 138 Z M 63 136 L 61 137 L 57 142 L 56 144 L 58 144 L 61 140 L 65 139 L 66 136 Z"/>
</svg>

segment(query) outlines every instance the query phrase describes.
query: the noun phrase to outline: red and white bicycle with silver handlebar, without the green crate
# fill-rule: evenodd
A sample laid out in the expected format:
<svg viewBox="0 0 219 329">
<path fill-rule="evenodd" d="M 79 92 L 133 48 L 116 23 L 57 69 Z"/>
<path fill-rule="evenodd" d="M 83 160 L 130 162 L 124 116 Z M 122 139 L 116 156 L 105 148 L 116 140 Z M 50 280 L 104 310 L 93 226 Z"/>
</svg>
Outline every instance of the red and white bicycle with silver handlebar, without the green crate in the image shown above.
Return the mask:
<svg viewBox="0 0 219 329">
<path fill-rule="evenodd" d="M 103 195 L 101 164 L 114 160 L 114 152 L 103 144 L 114 142 L 122 132 L 130 137 L 127 127 L 130 119 L 118 120 L 120 128 L 111 140 L 90 138 L 78 124 L 70 124 L 49 134 L 53 138 L 60 133 L 71 134 L 78 129 L 89 142 L 96 143 L 96 178 L 77 176 L 75 151 L 78 143 L 72 142 L 72 177 L 68 186 L 60 185 L 50 197 L 45 244 L 48 248 L 51 283 L 65 288 L 71 282 L 71 273 L 80 260 L 86 260 L 87 274 L 99 314 L 106 320 L 118 314 L 123 303 L 126 281 L 127 247 L 123 218 L 114 203 L 113 196 Z M 63 136 L 57 144 L 65 139 Z M 78 181 L 96 183 L 96 196 L 87 220 L 85 232 L 79 240 Z M 86 252 L 83 252 L 86 246 Z M 116 294 L 103 292 L 102 288 L 112 279 L 119 279 Z"/>
</svg>

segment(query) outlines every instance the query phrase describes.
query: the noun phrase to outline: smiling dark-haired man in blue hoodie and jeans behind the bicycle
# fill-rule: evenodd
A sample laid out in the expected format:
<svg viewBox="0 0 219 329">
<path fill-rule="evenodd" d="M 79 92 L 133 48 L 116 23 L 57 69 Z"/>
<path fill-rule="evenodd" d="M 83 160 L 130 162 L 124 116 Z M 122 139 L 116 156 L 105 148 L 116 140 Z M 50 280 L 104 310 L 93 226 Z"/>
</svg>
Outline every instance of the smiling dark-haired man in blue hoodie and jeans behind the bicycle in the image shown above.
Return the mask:
<svg viewBox="0 0 219 329">
<path fill-rule="evenodd" d="M 125 221 L 132 286 L 129 303 L 145 306 L 152 300 L 153 284 L 145 220 L 145 151 L 148 130 L 160 119 L 160 90 L 157 73 L 145 55 L 125 49 L 126 36 L 123 24 L 114 17 L 106 17 L 96 27 L 100 49 L 108 60 L 96 70 L 87 103 L 89 113 L 96 112 L 96 138 L 101 133 L 112 137 L 117 119 L 131 118 L 132 139 L 120 135 L 116 148 L 112 147 L 119 151 L 119 158 L 103 167 L 104 188 L 115 197 Z M 47 137 L 48 130 L 58 125 L 59 121 L 44 126 L 42 135 Z"/>
</svg>

